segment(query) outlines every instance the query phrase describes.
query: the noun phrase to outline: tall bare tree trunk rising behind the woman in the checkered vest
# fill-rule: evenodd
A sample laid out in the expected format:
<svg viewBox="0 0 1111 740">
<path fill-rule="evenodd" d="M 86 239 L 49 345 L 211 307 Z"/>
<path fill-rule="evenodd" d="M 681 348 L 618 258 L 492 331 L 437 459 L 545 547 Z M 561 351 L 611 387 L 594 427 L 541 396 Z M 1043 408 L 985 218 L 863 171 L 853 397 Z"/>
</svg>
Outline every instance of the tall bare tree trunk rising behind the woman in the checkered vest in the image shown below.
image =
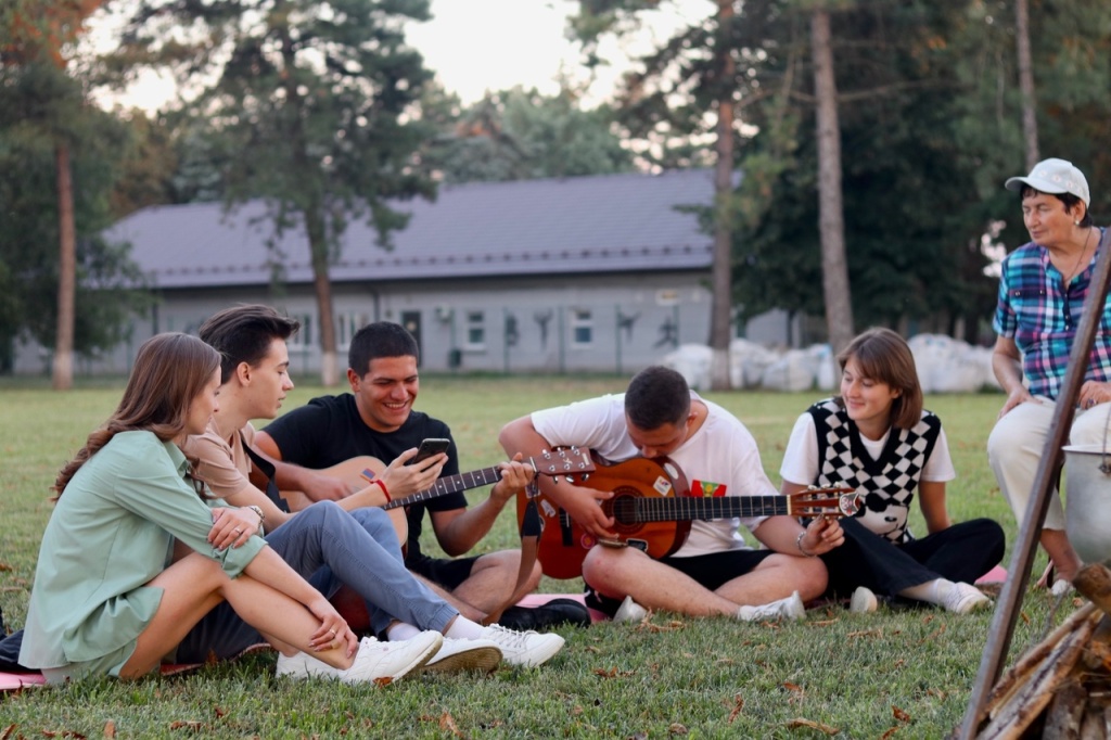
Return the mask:
<svg viewBox="0 0 1111 740">
<path fill-rule="evenodd" d="M 814 57 L 814 94 L 818 99 L 818 213 L 822 291 L 825 298 L 825 324 L 835 356 L 848 346 L 853 329 L 841 201 L 841 129 L 837 112 L 829 11 L 819 9 L 811 17 L 810 43 Z"/>
</svg>

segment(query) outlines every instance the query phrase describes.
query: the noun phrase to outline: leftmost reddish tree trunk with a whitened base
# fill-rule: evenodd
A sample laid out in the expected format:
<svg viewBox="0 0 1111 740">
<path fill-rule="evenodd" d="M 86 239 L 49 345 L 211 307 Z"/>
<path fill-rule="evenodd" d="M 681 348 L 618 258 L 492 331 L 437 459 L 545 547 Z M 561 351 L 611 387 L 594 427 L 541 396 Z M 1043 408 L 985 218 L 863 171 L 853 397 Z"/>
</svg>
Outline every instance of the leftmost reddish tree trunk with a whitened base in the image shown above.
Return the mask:
<svg viewBox="0 0 1111 740">
<path fill-rule="evenodd" d="M 54 338 L 53 387 L 73 387 L 73 321 L 77 293 L 77 230 L 73 226 L 73 181 L 70 176 L 69 144 L 54 150 L 58 170 L 58 336 Z"/>
</svg>

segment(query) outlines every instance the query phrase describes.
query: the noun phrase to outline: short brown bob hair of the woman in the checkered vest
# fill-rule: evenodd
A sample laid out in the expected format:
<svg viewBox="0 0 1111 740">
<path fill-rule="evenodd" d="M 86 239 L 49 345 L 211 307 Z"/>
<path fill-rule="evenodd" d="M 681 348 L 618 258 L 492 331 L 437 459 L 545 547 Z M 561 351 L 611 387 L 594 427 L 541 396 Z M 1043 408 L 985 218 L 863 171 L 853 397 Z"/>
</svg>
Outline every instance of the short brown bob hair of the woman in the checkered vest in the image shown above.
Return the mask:
<svg viewBox="0 0 1111 740">
<path fill-rule="evenodd" d="M 910 429 L 922 419 L 922 386 L 918 381 L 914 356 L 907 340 L 890 329 L 873 328 L 858 336 L 837 356 L 844 371 L 849 360 L 855 360 L 860 373 L 869 380 L 887 383 L 900 391 L 891 400 L 892 427 Z M 838 397 L 838 401 L 840 401 Z"/>
</svg>

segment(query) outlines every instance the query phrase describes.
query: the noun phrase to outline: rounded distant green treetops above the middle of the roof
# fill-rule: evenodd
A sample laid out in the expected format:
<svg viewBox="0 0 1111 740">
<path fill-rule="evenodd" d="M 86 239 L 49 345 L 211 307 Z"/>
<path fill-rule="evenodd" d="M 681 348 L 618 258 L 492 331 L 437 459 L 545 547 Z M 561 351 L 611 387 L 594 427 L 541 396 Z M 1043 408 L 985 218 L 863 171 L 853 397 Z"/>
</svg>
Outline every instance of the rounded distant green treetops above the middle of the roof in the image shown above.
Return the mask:
<svg viewBox="0 0 1111 740">
<path fill-rule="evenodd" d="M 456 101 L 458 103 L 458 100 Z M 434 103 L 433 103 L 434 104 Z M 582 110 L 574 91 L 518 87 L 441 120 L 423 163 L 447 183 L 607 174 L 632 169 L 612 111 Z"/>
</svg>

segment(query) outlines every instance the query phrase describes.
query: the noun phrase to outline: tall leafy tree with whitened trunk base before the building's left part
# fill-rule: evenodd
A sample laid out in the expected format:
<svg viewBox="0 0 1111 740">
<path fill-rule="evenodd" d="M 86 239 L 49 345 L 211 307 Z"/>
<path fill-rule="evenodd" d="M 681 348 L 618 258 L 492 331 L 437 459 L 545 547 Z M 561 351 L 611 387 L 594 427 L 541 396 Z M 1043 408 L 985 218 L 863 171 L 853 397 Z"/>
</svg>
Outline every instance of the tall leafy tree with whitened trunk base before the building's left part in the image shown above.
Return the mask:
<svg viewBox="0 0 1111 740">
<path fill-rule="evenodd" d="M 141 0 L 124 33 L 122 57 L 207 86 L 189 108 L 222 141 L 229 207 L 262 197 L 276 232 L 304 230 L 326 386 L 339 378 L 329 271 L 349 220 L 389 248 L 407 217 L 388 201 L 434 196 L 411 110 L 430 73 L 403 33 L 428 18 L 428 0 Z"/>
</svg>

